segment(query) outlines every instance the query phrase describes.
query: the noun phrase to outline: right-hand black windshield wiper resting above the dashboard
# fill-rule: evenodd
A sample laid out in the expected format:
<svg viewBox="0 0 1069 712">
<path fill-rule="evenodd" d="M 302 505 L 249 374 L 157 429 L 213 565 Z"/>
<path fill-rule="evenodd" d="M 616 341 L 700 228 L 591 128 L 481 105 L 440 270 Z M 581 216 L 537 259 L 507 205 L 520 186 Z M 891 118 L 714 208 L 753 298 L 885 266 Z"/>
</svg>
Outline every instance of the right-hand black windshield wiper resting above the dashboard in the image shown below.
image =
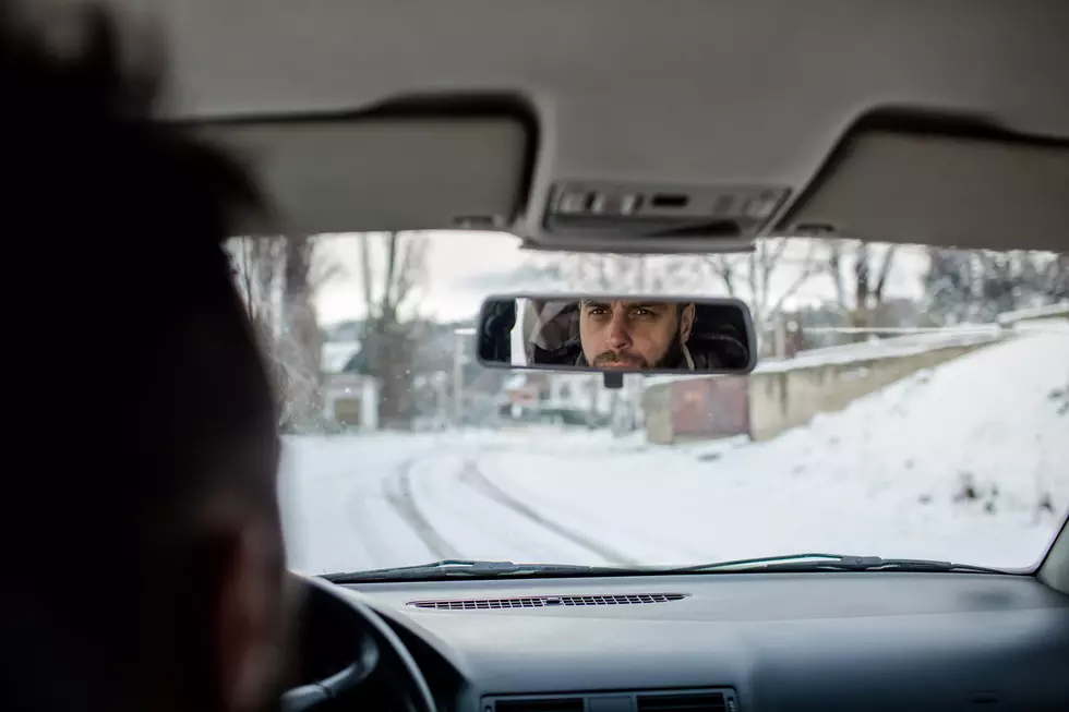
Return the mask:
<svg viewBox="0 0 1069 712">
<path fill-rule="evenodd" d="M 954 564 L 926 558 L 881 558 L 879 556 L 854 556 L 850 554 L 788 554 L 785 556 L 765 556 L 741 558 L 733 562 L 713 562 L 675 568 L 658 569 L 658 574 L 701 574 L 728 571 L 910 571 L 944 572 L 964 571 L 970 574 L 1010 574 L 986 566 Z"/>
</svg>

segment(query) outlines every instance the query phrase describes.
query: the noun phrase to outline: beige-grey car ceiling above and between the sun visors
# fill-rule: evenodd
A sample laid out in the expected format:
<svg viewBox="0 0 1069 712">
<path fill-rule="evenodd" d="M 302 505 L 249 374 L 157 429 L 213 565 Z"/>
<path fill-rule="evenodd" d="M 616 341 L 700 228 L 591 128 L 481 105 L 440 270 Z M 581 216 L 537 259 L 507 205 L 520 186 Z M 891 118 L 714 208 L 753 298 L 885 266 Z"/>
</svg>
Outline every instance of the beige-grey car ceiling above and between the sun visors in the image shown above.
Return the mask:
<svg viewBox="0 0 1069 712">
<path fill-rule="evenodd" d="M 508 226 L 520 234 L 541 230 L 558 179 L 786 185 L 803 195 L 874 109 L 971 117 L 1069 141 L 1065 0 L 115 4 L 163 20 L 176 71 L 171 110 L 183 120 L 358 111 L 429 93 L 520 94 L 539 125 L 530 190 Z M 1069 208 L 1060 204 L 1069 200 L 1056 198 L 1069 198 L 1069 153 L 1047 146 L 1054 160 L 1041 172 L 1066 184 L 1041 184 L 1043 209 L 1030 213 L 1043 219 L 1001 246 L 1067 249 Z M 1017 165 L 1031 164 L 1018 156 Z M 367 227 L 349 217 L 349 229 Z M 909 241 L 888 227 L 891 239 Z M 925 237 L 995 246 L 962 232 Z"/>
</svg>

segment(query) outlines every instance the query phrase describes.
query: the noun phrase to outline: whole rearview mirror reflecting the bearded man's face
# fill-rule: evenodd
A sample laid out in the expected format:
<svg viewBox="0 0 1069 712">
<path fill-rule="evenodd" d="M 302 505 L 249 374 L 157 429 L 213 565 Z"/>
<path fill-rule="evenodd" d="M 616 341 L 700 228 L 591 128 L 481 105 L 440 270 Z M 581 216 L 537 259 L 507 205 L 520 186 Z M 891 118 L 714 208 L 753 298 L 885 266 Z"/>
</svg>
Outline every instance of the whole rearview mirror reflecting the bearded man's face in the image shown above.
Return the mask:
<svg viewBox="0 0 1069 712">
<path fill-rule="evenodd" d="M 492 297 L 477 331 L 479 361 L 491 367 L 746 374 L 757 365 L 754 322 L 737 299 Z"/>
</svg>

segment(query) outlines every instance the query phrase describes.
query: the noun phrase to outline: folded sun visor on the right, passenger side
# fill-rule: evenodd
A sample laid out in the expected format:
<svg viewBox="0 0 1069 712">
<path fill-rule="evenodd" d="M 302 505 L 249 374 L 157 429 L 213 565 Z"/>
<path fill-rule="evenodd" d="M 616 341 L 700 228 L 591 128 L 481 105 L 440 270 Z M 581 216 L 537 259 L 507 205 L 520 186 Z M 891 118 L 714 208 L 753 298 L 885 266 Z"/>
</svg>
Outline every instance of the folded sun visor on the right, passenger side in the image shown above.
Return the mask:
<svg viewBox="0 0 1069 712">
<path fill-rule="evenodd" d="M 1069 250 L 1069 144 L 994 130 L 850 132 L 779 233 Z"/>
</svg>

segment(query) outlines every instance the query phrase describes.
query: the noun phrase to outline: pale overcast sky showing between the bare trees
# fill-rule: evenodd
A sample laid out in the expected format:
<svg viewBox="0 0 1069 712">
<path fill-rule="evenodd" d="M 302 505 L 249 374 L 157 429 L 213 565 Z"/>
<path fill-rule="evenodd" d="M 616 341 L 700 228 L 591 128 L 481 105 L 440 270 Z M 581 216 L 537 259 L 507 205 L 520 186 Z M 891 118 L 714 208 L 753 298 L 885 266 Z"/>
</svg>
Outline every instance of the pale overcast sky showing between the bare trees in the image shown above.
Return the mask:
<svg viewBox="0 0 1069 712">
<path fill-rule="evenodd" d="M 359 318 L 363 313 L 360 285 L 359 243 L 361 236 L 329 236 L 327 252 L 339 262 L 344 274 L 325 285 L 317 298 L 320 319 L 334 324 Z M 521 250 L 519 239 L 503 232 L 436 231 L 428 233 L 427 275 L 421 290 L 420 312 L 439 319 L 458 319 L 477 313 L 482 300 L 492 292 L 537 289 L 538 282 L 525 278 L 523 267 L 545 253 Z M 697 257 L 695 257 L 697 258 Z M 927 265 L 922 249 L 900 249 L 891 271 L 887 297 L 916 298 L 921 276 Z M 779 289 L 794 281 L 796 268 L 777 270 L 772 298 Z M 546 286 L 550 290 L 553 286 Z M 796 299 L 814 302 L 833 298 L 831 280 L 821 276 L 808 280 Z"/>
</svg>

